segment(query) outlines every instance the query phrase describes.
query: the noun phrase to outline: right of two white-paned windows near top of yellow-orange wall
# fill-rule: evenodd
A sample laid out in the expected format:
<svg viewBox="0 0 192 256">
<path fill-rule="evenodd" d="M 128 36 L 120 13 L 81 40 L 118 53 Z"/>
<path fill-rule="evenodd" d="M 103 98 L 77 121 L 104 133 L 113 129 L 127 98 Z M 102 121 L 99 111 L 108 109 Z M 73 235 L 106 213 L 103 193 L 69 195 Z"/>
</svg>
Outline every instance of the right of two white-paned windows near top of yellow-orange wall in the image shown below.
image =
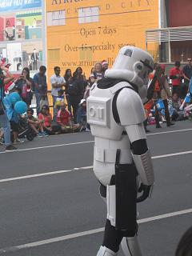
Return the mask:
<svg viewBox="0 0 192 256">
<path fill-rule="evenodd" d="M 78 9 L 78 23 L 98 22 L 99 7 L 92 6 Z"/>
</svg>

